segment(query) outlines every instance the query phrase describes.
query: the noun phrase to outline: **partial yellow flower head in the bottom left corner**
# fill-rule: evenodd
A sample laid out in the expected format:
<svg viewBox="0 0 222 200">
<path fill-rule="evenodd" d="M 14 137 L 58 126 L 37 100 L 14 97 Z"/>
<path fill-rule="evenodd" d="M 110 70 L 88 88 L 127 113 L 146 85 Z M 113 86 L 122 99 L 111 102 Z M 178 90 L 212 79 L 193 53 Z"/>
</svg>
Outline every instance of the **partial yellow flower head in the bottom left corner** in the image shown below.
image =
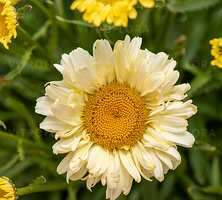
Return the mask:
<svg viewBox="0 0 222 200">
<path fill-rule="evenodd" d="M 0 177 L 0 199 L 15 200 L 16 192 L 14 185 L 7 177 Z"/>
</svg>

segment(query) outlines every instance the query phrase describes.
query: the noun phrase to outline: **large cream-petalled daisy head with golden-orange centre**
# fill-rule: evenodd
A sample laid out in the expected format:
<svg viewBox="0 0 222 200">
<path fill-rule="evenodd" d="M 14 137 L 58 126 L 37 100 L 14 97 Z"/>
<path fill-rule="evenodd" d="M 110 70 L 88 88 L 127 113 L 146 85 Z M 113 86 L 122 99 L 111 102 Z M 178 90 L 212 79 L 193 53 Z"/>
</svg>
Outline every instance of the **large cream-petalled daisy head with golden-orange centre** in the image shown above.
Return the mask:
<svg viewBox="0 0 222 200">
<path fill-rule="evenodd" d="M 181 161 L 177 145 L 191 147 L 187 119 L 196 113 L 183 101 L 189 84 L 175 85 L 176 62 L 165 53 L 140 49 L 141 38 L 94 44 L 93 56 L 77 48 L 62 56 L 56 69 L 62 81 L 51 82 L 37 100 L 47 117 L 40 128 L 55 133 L 55 154 L 67 154 L 59 174 L 101 181 L 106 198 L 130 192 L 141 177 L 163 181 Z"/>
</svg>

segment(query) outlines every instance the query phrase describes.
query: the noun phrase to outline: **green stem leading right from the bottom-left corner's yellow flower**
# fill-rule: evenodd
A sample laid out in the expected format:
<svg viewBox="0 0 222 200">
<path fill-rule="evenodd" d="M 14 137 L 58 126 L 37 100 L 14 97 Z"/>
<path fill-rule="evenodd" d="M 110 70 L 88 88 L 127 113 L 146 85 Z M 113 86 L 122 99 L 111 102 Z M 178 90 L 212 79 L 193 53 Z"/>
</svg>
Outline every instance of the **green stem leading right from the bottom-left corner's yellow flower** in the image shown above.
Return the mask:
<svg viewBox="0 0 222 200">
<path fill-rule="evenodd" d="M 38 192 L 64 190 L 67 187 L 68 185 L 65 182 L 51 182 L 51 183 L 46 183 L 42 185 L 29 185 L 26 187 L 18 188 L 17 194 L 18 196 L 23 196 L 23 195 L 38 193 Z"/>
</svg>

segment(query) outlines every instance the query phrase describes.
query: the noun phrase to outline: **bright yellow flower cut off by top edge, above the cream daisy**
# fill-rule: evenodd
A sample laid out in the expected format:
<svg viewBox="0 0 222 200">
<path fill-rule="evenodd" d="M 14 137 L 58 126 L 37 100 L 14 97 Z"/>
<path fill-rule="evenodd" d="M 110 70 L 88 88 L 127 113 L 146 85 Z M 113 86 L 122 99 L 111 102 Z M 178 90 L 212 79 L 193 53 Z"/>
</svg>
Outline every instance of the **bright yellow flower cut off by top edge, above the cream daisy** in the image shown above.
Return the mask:
<svg viewBox="0 0 222 200">
<path fill-rule="evenodd" d="M 139 0 L 147 8 L 154 6 L 154 0 Z M 106 21 L 115 26 L 126 27 L 128 19 L 135 19 L 137 11 L 135 5 L 138 0 L 75 0 L 72 10 L 84 12 L 83 19 L 95 26 L 100 26 Z"/>
</svg>

